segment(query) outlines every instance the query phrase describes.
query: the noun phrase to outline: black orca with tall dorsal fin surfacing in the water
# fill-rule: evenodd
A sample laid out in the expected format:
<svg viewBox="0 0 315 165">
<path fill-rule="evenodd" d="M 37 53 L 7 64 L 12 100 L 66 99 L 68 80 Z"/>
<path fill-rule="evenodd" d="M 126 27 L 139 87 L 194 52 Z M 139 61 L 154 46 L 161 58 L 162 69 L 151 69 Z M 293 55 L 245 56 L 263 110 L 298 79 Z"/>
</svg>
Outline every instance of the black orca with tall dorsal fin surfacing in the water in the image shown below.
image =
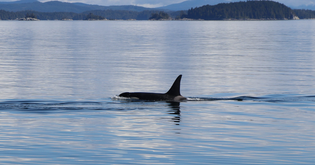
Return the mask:
<svg viewBox="0 0 315 165">
<path fill-rule="evenodd" d="M 172 87 L 166 93 L 150 93 L 150 92 L 125 92 L 120 94 L 120 97 L 127 97 L 130 99 L 138 100 L 151 100 L 151 101 L 181 101 L 187 100 L 186 97 L 180 95 L 180 80 L 179 75 L 174 81 Z"/>
</svg>

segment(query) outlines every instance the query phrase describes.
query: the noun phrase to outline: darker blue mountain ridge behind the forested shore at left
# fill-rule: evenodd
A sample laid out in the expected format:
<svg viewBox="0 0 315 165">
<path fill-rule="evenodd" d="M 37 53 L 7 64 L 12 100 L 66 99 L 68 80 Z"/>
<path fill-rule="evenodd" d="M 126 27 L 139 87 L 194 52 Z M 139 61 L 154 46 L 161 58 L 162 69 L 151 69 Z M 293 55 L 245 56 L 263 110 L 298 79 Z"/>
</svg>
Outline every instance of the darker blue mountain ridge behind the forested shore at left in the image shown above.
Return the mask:
<svg viewBox="0 0 315 165">
<path fill-rule="evenodd" d="M 67 3 L 60 1 L 49 1 L 39 2 L 37 0 L 20 0 L 13 2 L 0 2 L 0 10 L 5 11 L 23 11 L 33 10 L 39 12 L 74 12 L 82 13 L 89 10 L 129 10 L 129 11 L 144 11 L 144 10 L 164 10 L 168 9 L 156 9 L 156 8 L 145 8 L 142 6 L 134 5 L 122 5 L 122 6 L 100 6 L 100 5 L 89 5 L 85 3 Z"/>
</svg>

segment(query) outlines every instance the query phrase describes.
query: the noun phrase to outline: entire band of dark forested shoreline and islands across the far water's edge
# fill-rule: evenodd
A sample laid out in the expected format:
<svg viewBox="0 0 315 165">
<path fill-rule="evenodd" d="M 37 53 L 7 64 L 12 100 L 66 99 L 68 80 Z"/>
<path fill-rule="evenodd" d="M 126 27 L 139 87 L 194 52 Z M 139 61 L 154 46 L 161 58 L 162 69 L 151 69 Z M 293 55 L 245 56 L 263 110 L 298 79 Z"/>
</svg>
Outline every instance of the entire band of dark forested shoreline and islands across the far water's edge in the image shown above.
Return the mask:
<svg viewBox="0 0 315 165">
<path fill-rule="evenodd" d="M 168 19 L 175 20 L 204 19 L 315 19 L 315 11 L 305 9 L 291 9 L 282 3 L 274 1 L 247 1 L 234 3 L 220 3 L 217 5 L 204 5 L 184 11 L 159 11 L 159 10 L 90 10 L 82 13 L 74 12 L 38 12 L 0 10 L 1 20 L 16 20 L 33 14 L 40 20 L 148 20 Z"/>
</svg>

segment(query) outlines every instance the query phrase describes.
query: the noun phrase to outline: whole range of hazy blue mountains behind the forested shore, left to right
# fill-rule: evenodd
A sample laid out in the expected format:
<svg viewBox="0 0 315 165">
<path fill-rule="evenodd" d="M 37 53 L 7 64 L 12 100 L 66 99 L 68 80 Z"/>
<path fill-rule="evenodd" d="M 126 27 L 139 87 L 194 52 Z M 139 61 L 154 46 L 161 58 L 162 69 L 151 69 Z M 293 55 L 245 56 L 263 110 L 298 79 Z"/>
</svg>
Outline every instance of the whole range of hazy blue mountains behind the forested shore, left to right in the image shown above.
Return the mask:
<svg viewBox="0 0 315 165">
<path fill-rule="evenodd" d="M 13 2 L 0 2 L 0 10 L 5 11 L 24 11 L 33 10 L 38 12 L 74 12 L 82 13 L 90 10 L 128 10 L 128 11 L 145 11 L 145 10 L 163 10 L 163 11 L 178 11 L 188 10 L 190 8 L 196 8 L 203 5 L 216 5 L 218 3 L 239 2 L 240 0 L 188 0 L 182 3 L 175 3 L 168 6 L 158 8 L 145 8 L 142 6 L 134 5 L 122 5 L 122 6 L 100 6 L 90 5 L 85 3 L 67 3 L 60 1 L 39 2 L 37 0 L 20 0 Z M 299 6 L 291 8 L 304 8 L 315 10 L 315 5 Z"/>
</svg>

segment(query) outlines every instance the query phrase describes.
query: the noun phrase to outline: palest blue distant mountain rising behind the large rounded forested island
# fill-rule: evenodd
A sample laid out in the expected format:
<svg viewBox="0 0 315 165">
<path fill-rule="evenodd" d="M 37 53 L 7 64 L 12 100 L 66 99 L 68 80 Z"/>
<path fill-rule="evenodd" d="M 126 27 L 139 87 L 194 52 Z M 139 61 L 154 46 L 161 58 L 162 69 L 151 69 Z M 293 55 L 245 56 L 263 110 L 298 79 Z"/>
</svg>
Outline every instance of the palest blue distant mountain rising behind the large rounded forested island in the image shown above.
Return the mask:
<svg viewBox="0 0 315 165">
<path fill-rule="evenodd" d="M 246 0 L 188 0 L 182 3 L 174 3 L 168 6 L 158 7 L 158 9 L 169 9 L 169 10 L 188 10 L 190 8 L 196 8 L 203 5 L 216 5 L 219 3 L 230 3 L 230 2 L 239 2 Z M 277 0 L 275 0 L 277 1 Z M 311 9 L 315 10 L 315 5 L 304 5 L 304 6 L 289 6 L 290 8 L 300 8 L 300 9 Z"/>
</svg>

